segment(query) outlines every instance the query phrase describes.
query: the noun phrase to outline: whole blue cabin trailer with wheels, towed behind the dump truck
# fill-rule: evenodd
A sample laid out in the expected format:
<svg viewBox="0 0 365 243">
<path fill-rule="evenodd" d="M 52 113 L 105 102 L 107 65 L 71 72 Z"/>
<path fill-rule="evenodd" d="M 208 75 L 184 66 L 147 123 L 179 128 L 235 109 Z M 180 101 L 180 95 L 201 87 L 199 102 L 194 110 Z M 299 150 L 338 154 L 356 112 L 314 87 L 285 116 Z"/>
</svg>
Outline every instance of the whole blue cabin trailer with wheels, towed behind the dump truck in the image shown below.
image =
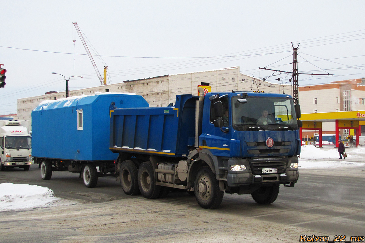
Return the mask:
<svg viewBox="0 0 365 243">
<path fill-rule="evenodd" d="M 97 92 L 42 102 L 32 111 L 32 155 L 42 179 L 70 171 L 95 187 L 98 177 L 114 176 L 118 156 L 109 149 L 111 102 L 119 108 L 149 106 L 139 95 Z"/>
</svg>

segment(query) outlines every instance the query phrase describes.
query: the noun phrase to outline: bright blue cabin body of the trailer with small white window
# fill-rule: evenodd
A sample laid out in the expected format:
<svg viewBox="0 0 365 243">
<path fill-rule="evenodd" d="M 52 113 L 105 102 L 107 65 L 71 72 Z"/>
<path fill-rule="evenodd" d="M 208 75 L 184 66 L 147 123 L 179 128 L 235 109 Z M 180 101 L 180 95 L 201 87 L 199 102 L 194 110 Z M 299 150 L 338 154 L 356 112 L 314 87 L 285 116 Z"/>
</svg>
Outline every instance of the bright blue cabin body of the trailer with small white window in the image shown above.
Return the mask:
<svg viewBox="0 0 365 243">
<path fill-rule="evenodd" d="M 108 146 L 112 102 L 123 108 L 149 106 L 143 97 L 130 94 L 99 94 L 38 105 L 32 111 L 32 156 L 115 160 L 118 155 Z"/>
</svg>

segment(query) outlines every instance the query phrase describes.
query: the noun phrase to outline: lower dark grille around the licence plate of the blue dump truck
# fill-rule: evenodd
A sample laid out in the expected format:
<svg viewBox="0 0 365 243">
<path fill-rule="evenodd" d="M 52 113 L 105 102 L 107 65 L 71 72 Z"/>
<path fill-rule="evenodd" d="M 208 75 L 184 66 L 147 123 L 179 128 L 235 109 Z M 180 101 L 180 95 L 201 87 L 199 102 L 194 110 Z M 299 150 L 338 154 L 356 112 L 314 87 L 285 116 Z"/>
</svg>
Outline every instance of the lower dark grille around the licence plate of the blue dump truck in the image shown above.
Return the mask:
<svg viewBox="0 0 365 243">
<path fill-rule="evenodd" d="M 249 159 L 251 171 L 254 175 L 262 175 L 262 169 L 277 168 L 278 173 L 284 173 L 287 169 L 287 158 L 252 158 Z"/>
</svg>

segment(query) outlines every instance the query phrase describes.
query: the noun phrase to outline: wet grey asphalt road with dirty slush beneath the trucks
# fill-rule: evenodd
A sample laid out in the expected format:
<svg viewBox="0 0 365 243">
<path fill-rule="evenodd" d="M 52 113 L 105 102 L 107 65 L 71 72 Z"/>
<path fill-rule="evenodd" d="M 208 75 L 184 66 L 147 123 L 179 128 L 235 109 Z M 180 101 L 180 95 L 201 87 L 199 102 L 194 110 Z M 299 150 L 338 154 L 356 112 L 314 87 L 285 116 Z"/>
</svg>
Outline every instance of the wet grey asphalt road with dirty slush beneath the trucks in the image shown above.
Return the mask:
<svg viewBox="0 0 365 243">
<path fill-rule="evenodd" d="M 0 212 L 2 242 L 299 242 L 300 235 L 364 236 L 365 164 L 301 169 L 295 187 L 280 187 L 270 205 L 250 195 L 224 194 L 221 207 L 205 210 L 187 193 L 164 199 L 127 196 L 114 177 L 86 188 L 78 174 L 54 172 L 42 180 L 29 171 L 0 172 L 0 183 L 52 189 L 73 205 Z M 18 227 L 14 227 L 14 226 Z M 31 227 L 30 227 L 31 226 Z M 23 232 L 22 229 L 28 229 Z"/>
</svg>

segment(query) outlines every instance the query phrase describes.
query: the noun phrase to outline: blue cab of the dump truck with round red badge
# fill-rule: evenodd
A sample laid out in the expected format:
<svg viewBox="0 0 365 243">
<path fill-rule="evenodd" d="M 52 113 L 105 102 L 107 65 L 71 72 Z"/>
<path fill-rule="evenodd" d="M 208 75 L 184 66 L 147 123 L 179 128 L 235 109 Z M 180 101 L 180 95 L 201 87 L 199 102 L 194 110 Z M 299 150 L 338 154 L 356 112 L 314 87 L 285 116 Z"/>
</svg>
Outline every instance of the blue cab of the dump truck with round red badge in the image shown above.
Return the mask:
<svg viewBox="0 0 365 243">
<path fill-rule="evenodd" d="M 204 107 L 210 109 L 203 110 L 199 153 L 213 158 L 224 191 L 243 194 L 266 185 L 294 186 L 301 122 L 291 96 L 208 93 Z"/>
</svg>

